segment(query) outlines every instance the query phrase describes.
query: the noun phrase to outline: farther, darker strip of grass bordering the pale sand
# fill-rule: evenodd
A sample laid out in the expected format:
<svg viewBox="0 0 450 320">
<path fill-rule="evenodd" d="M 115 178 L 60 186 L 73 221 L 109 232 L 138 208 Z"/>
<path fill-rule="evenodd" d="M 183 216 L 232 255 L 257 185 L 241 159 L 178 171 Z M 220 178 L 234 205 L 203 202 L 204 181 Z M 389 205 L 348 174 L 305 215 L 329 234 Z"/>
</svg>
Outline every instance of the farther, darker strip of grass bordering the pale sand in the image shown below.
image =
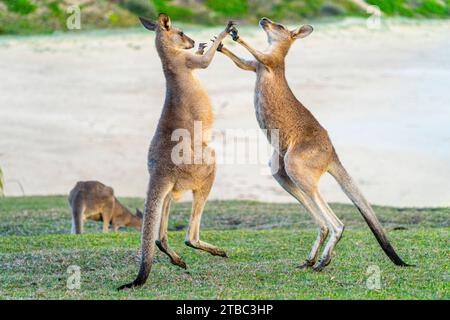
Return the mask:
<svg viewBox="0 0 450 320">
<path fill-rule="evenodd" d="M 142 209 L 144 200 L 120 198 L 132 211 Z M 353 205 L 331 204 L 347 229 L 366 228 Z M 450 208 L 394 208 L 374 206 L 387 230 L 402 228 L 442 228 L 450 226 Z M 169 230 L 186 229 L 191 204 L 172 205 Z M 69 233 L 71 213 L 66 196 L 6 197 L 0 199 L 0 236 Z M 202 227 L 209 230 L 314 228 L 309 214 L 296 203 L 255 201 L 208 201 Z M 86 232 L 100 232 L 101 223 L 88 221 Z"/>
</svg>

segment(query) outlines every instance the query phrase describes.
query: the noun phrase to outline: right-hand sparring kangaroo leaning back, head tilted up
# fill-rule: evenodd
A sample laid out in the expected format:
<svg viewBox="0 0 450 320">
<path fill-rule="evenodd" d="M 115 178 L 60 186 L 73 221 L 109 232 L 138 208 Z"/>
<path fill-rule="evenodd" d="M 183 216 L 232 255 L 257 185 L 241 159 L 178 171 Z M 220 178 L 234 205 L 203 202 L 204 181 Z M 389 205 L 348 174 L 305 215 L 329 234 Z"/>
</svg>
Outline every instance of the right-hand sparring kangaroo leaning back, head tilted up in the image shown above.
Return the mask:
<svg viewBox="0 0 450 320">
<path fill-rule="evenodd" d="M 319 227 L 312 250 L 300 267 L 313 267 L 316 271 L 326 267 L 344 231 L 344 224 L 318 190 L 319 180 L 326 172 L 337 180 L 361 212 L 387 256 L 396 265 L 407 266 L 389 243 L 369 202 L 339 161 L 327 131 L 297 100 L 286 81 L 285 57 L 289 48 L 296 39 L 308 36 L 313 28 L 304 25 L 290 31 L 267 18 L 262 18 L 259 24 L 266 32 L 269 43 L 269 48 L 264 52 L 249 46 L 239 37 L 236 28 L 233 27 L 231 31 L 233 40 L 246 48 L 254 60 L 239 58 L 222 44 L 218 50 L 239 68 L 256 72 L 256 118 L 261 129 L 279 130 L 278 143 L 270 141 L 271 137 L 268 135 L 269 142 L 275 148 L 271 160 L 272 174 L 288 193 L 303 204 Z M 330 238 L 316 265 L 319 250 L 329 232 Z"/>
</svg>

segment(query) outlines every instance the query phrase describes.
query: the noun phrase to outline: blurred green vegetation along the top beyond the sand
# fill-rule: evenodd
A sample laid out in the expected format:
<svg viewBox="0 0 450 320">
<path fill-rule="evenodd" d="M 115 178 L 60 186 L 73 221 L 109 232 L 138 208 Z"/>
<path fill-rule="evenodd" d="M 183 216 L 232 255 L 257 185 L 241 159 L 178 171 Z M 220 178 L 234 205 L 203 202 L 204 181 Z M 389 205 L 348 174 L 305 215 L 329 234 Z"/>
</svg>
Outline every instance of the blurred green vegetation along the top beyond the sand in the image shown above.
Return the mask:
<svg viewBox="0 0 450 320">
<path fill-rule="evenodd" d="M 367 16 L 355 0 L 0 0 L 0 34 L 65 31 L 67 8 L 81 9 L 82 29 L 130 27 L 136 16 L 165 12 L 175 21 L 214 25 L 228 19 L 255 23 L 262 16 L 284 22 L 324 16 Z M 366 0 L 386 16 L 449 18 L 450 0 Z"/>
</svg>

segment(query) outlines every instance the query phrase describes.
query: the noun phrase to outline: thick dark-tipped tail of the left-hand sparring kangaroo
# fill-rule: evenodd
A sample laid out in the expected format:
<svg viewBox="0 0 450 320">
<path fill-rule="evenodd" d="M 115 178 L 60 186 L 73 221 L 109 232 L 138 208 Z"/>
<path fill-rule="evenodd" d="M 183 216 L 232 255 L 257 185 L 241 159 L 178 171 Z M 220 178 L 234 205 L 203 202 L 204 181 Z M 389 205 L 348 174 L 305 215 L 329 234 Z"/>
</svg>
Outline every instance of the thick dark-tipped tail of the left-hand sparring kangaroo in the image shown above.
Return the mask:
<svg viewBox="0 0 450 320">
<path fill-rule="evenodd" d="M 124 284 L 118 290 L 140 287 L 150 274 L 155 254 L 155 241 L 158 234 L 158 226 L 161 221 L 161 207 L 165 193 L 161 188 L 149 187 L 145 200 L 145 214 L 141 234 L 141 265 L 138 275 L 133 282 Z"/>
</svg>

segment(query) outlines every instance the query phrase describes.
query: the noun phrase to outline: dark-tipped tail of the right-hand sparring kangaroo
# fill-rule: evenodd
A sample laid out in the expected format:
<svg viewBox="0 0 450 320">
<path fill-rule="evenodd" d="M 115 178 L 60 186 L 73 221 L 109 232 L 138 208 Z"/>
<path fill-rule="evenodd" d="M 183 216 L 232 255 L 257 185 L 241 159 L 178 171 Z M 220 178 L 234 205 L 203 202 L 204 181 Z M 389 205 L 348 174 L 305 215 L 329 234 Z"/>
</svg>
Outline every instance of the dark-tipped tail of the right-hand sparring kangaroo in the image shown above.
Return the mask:
<svg viewBox="0 0 450 320">
<path fill-rule="evenodd" d="M 364 217 L 364 220 L 369 225 L 370 230 L 372 230 L 372 233 L 389 259 L 391 259 L 391 261 L 397 266 L 410 266 L 405 263 L 395 252 L 369 202 L 364 198 L 361 191 L 359 191 L 355 182 L 347 173 L 337 157 L 329 167 L 328 172 L 336 179 L 345 194 L 358 208 L 359 212 Z"/>
</svg>

